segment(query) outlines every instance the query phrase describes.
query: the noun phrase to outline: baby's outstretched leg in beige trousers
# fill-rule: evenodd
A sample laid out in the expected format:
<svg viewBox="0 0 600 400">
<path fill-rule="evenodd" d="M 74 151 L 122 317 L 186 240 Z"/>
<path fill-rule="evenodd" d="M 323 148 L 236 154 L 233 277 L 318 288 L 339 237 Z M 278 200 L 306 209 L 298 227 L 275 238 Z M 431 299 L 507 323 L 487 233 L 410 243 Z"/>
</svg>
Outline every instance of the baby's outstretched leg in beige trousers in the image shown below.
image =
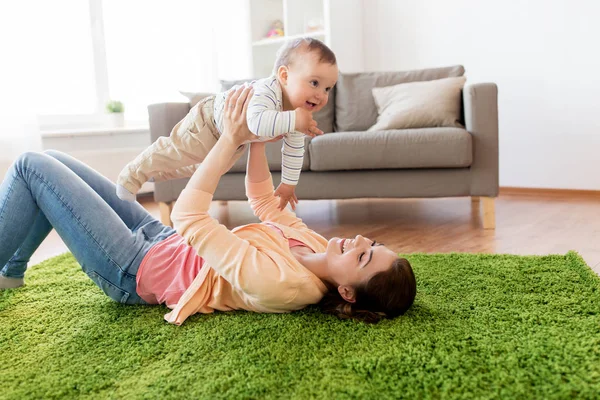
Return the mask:
<svg viewBox="0 0 600 400">
<path fill-rule="evenodd" d="M 135 201 L 144 182 L 170 177 L 169 173 L 198 164 L 217 143 L 218 132 L 213 123 L 213 98 L 194 106 L 172 130 L 127 164 L 117 179 L 117 195 Z"/>
</svg>

